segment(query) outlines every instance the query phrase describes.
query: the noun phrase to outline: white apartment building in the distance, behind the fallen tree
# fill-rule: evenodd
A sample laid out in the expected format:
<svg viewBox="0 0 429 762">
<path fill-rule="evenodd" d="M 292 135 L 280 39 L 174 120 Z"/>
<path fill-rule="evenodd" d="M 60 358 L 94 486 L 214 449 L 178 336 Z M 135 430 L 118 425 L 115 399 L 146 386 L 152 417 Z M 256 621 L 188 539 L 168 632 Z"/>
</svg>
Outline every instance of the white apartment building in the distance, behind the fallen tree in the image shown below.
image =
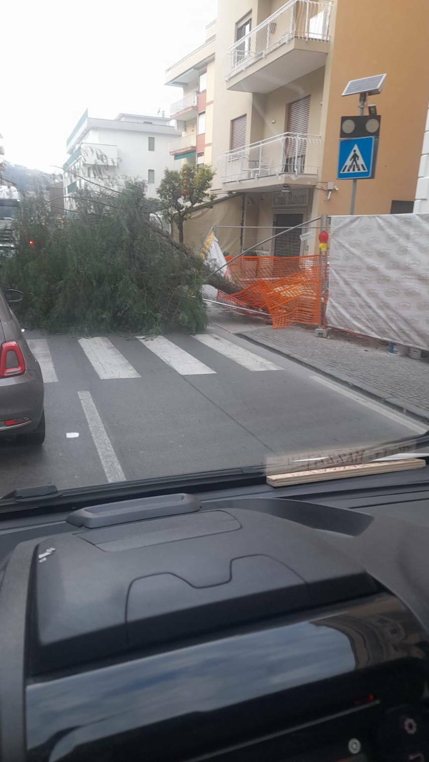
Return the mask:
<svg viewBox="0 0 429 762">
<path fill-rule="evenodd" d="M 147 183 L 147 196 L 155 197 L 165 168 L 174 167 L 169 142 L 179 134 L 169 117 L 118 114 L 115 119 L 98 119 L 85 110 L 67 139 L 65 208 L 73 207 L 73 192 L 86 179 L 118 189 L 125 177 L 139 178 Z"/>
</svg>

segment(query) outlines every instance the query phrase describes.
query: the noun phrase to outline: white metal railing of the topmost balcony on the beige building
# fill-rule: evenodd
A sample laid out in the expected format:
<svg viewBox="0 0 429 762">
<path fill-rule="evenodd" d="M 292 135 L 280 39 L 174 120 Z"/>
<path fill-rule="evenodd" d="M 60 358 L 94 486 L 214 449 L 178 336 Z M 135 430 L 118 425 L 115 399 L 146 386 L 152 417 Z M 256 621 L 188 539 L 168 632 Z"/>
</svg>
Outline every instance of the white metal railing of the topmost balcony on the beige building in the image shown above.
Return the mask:
<svg viewBox="0 0 429 762">
<path fill-rule="evenodd" d="M 289 0 L 228 48 L 224 57 L 225 77 L 234 76 L 294 37 L 327 42 L 331 5 L 331 0 Z"/>
</svg>

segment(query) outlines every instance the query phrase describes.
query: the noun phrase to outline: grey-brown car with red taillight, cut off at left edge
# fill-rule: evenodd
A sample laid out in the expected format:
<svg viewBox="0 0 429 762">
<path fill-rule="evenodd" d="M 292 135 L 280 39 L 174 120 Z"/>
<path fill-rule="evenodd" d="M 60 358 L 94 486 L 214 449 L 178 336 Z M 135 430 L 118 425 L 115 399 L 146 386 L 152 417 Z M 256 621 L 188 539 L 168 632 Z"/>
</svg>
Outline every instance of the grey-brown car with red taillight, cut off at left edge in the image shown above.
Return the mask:
<svg viewBox="0 0 429 762">
<path fill-rule="evenodd" d="M 45 438 L 44 381 L 9 305 L 24 294 L 0 290 L 0 438 L 40 445 Z"/>
</svg>

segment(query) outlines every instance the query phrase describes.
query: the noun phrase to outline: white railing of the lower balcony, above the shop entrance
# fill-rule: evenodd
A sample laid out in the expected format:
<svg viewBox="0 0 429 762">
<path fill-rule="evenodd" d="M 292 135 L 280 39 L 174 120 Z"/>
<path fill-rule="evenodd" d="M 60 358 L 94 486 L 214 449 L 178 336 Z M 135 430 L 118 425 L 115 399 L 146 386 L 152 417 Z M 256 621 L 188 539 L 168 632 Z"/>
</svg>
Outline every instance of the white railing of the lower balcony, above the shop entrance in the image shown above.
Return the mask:
<svg viewBox="0 0 429 762">
<path fill-rule="evenodd" d="M 283 133 L 227 151 L 218 159 L 223 183 L 258 180 L 280 174 L 318 174 L 321 137 Z"/>
</svg>

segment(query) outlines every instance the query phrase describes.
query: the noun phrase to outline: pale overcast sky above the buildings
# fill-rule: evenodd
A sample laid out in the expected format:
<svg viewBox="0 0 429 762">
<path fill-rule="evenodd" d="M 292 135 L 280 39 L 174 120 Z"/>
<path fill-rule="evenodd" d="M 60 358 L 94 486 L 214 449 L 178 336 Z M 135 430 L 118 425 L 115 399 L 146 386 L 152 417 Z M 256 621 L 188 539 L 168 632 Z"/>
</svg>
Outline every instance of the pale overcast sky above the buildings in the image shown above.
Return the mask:
<svg viewBox="0 0 429 762">
<path fill-rule="evenodd" d="M 169 114 L 165 69 L 205 40 L 217 0 L 37 0 L 2 5 L 5 159 L 58 171 L 86 107 L 93 117 Z M 4 68 L 3 68 L 4 67 Z"/>
</svg>

